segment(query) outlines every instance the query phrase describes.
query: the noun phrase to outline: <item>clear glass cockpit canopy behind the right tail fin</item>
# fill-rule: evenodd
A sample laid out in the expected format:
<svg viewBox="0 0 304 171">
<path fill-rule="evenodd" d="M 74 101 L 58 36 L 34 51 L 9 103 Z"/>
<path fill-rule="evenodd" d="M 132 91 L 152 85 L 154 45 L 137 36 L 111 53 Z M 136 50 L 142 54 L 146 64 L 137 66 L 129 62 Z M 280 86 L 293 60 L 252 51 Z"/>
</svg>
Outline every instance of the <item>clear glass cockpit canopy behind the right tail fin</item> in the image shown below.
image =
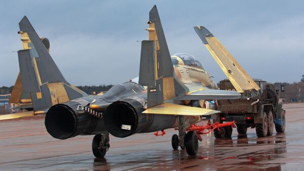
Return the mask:
<svg viewBox="0 0 304 171">
<path fill-rule="evenodd" d="M 203 65 L 199 61 L 195 60 L 194 56 L 191 54 L 175 53 L 171 56 L 171 61 L 173 65 L 185 65 L 205 70 Z"/>
</svg>

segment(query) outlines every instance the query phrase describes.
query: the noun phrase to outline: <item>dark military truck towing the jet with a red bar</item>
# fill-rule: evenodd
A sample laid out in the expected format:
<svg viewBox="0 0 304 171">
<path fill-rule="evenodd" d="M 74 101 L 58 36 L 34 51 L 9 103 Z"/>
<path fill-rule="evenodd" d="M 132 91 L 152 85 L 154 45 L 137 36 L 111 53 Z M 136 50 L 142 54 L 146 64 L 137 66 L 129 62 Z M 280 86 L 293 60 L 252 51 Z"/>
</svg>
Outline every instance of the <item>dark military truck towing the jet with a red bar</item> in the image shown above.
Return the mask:
<svg viewBox="0 0 304 171">
<path fill-rule="evenodd" d="M 280 90 L 275 90 L 274 84 L 261 79 L 253 80 L 260 87 L 257 96 L 247 99 L 218 100 L 216 110 L 221 113 L 214 115 L 213 121 L 220 124 L 234 122 L 239 134 L 246 134 L 248 128 L 255 128 L 257 137 L 271 136 L 274 127 L 277 133 L 283 133 L 286 122 L 285 110 L 282 108 L 282 102 L 279 102 Z M 219 88 L 235 90 L 229 80 L 220 81 Z M 232 127 L 221 127 L 214 130 L 214 137 L 229 138 L 232 131 Z"/>
</svg>

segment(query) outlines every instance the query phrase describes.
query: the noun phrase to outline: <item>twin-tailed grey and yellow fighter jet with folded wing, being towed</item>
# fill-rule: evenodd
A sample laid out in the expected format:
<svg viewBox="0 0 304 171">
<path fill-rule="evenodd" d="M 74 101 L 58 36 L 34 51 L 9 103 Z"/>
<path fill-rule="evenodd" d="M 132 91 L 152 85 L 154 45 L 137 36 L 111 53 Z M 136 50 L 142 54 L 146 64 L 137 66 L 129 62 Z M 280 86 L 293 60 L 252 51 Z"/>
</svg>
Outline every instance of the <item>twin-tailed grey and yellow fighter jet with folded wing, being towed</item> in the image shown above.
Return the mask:
<svg viewBox="0 0 304 171">
<path fill-rule="evenodd" d="M 203 108 L 204 100 L 248 98 L 254 96 L 259 89 L 229 52 L 204 27 L 198 26 L 195 30 L 237 91 L 211 89 L 216 85 L 193 56 L 177 53 L 170 57 L 159 14 L 154 6 L 149 13 L 149 28 L 146 29 L 149 32 L 149 40 L 142 41 L 141 45 L 138 84 L 129 81 L 113 86 L 103 95 L 85 96 L 65 81 L 27 18 L 24 17 L 20 23 L 20 31 L 27 33 L 31 43 L 31 48 L 19 50 L 18 56 L 22 85 L 29 76 L 31 81 L 35 82 L 34 85 L 26 87 L 31 89 L 33 107 L 39 104 L 50 107 L 45 125 L 48 133 L 54 138 L 95 135 L 92 150 L 96 157 L 103 157 L 109 148 L 108 134 L 124 138 L 169 128 L 178 128 L 178 135 L 172 137 L 172 147 L 177 149 L 180 146 L 186 149 L 187 154 L 196 155 L 202 127 L 196 127 L 195 124 L 200 122 L 203 116 L 219 112 Z M 20 63 L 22 59 L 26 62 Z M 35 60 L 45 67 L 51 65 L 44 76 L 37 76 L 39 69 L 35 70 Z M 25 64 L 31 69 L 22 69 L 21 65 Z M 60 79 L 55 79 L 54 74 L 59 74 Z M 45 81 L 37 81 L 36 77 Z M 46 78 L 54 80 L 48 81 Z M 52 105 L 50 84 L 63 86 L 60 90 L 65 92 L 63 94 L 66 94 L 68 99 L 73 100 Z M 209 124 L 207 127 L 215 129 L 232 125 L 233 122 L 221 126 Z"/>
</svg>

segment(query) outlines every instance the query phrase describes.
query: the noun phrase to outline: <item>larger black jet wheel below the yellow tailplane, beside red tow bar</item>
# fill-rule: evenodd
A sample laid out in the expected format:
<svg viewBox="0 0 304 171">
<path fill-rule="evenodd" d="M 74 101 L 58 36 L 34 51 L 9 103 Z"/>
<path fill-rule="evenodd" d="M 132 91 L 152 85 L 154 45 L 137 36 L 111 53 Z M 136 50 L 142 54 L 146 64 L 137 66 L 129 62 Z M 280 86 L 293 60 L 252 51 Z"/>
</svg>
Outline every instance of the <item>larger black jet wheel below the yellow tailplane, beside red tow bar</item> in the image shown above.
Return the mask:
<svg viewBox="0 0 304 171">
<path fill-rule="evenodd" d="M 196 155 L 199 149 L 199 140 L 195 131 L 187 132 L 185 136 L 185 146 L 188 155 Z"/>
</svg>

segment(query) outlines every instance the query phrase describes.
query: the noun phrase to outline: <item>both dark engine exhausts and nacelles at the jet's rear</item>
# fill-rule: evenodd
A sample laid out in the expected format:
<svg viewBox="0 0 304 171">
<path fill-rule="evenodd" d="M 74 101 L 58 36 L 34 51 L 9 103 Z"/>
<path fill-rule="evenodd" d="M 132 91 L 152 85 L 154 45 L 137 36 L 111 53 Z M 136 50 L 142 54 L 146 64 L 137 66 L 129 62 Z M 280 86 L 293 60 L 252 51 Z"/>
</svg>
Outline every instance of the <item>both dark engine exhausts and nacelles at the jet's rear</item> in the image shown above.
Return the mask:
<svg viewBox="0 0 304 171">
<path fill-rule="evenodd" d="M 136 133 L 148 133 L 172 128 L 176 116 L 142 113 L 143 101 L 126 98 L 111 103 L 99 119 L 77 110 L 80 103 L 69 101 L 52 106 L 47 112 L 45 126 L 57 139 L 78 135 L 97 135 L 105 132 L 119 138 Z"/>
</svg>

